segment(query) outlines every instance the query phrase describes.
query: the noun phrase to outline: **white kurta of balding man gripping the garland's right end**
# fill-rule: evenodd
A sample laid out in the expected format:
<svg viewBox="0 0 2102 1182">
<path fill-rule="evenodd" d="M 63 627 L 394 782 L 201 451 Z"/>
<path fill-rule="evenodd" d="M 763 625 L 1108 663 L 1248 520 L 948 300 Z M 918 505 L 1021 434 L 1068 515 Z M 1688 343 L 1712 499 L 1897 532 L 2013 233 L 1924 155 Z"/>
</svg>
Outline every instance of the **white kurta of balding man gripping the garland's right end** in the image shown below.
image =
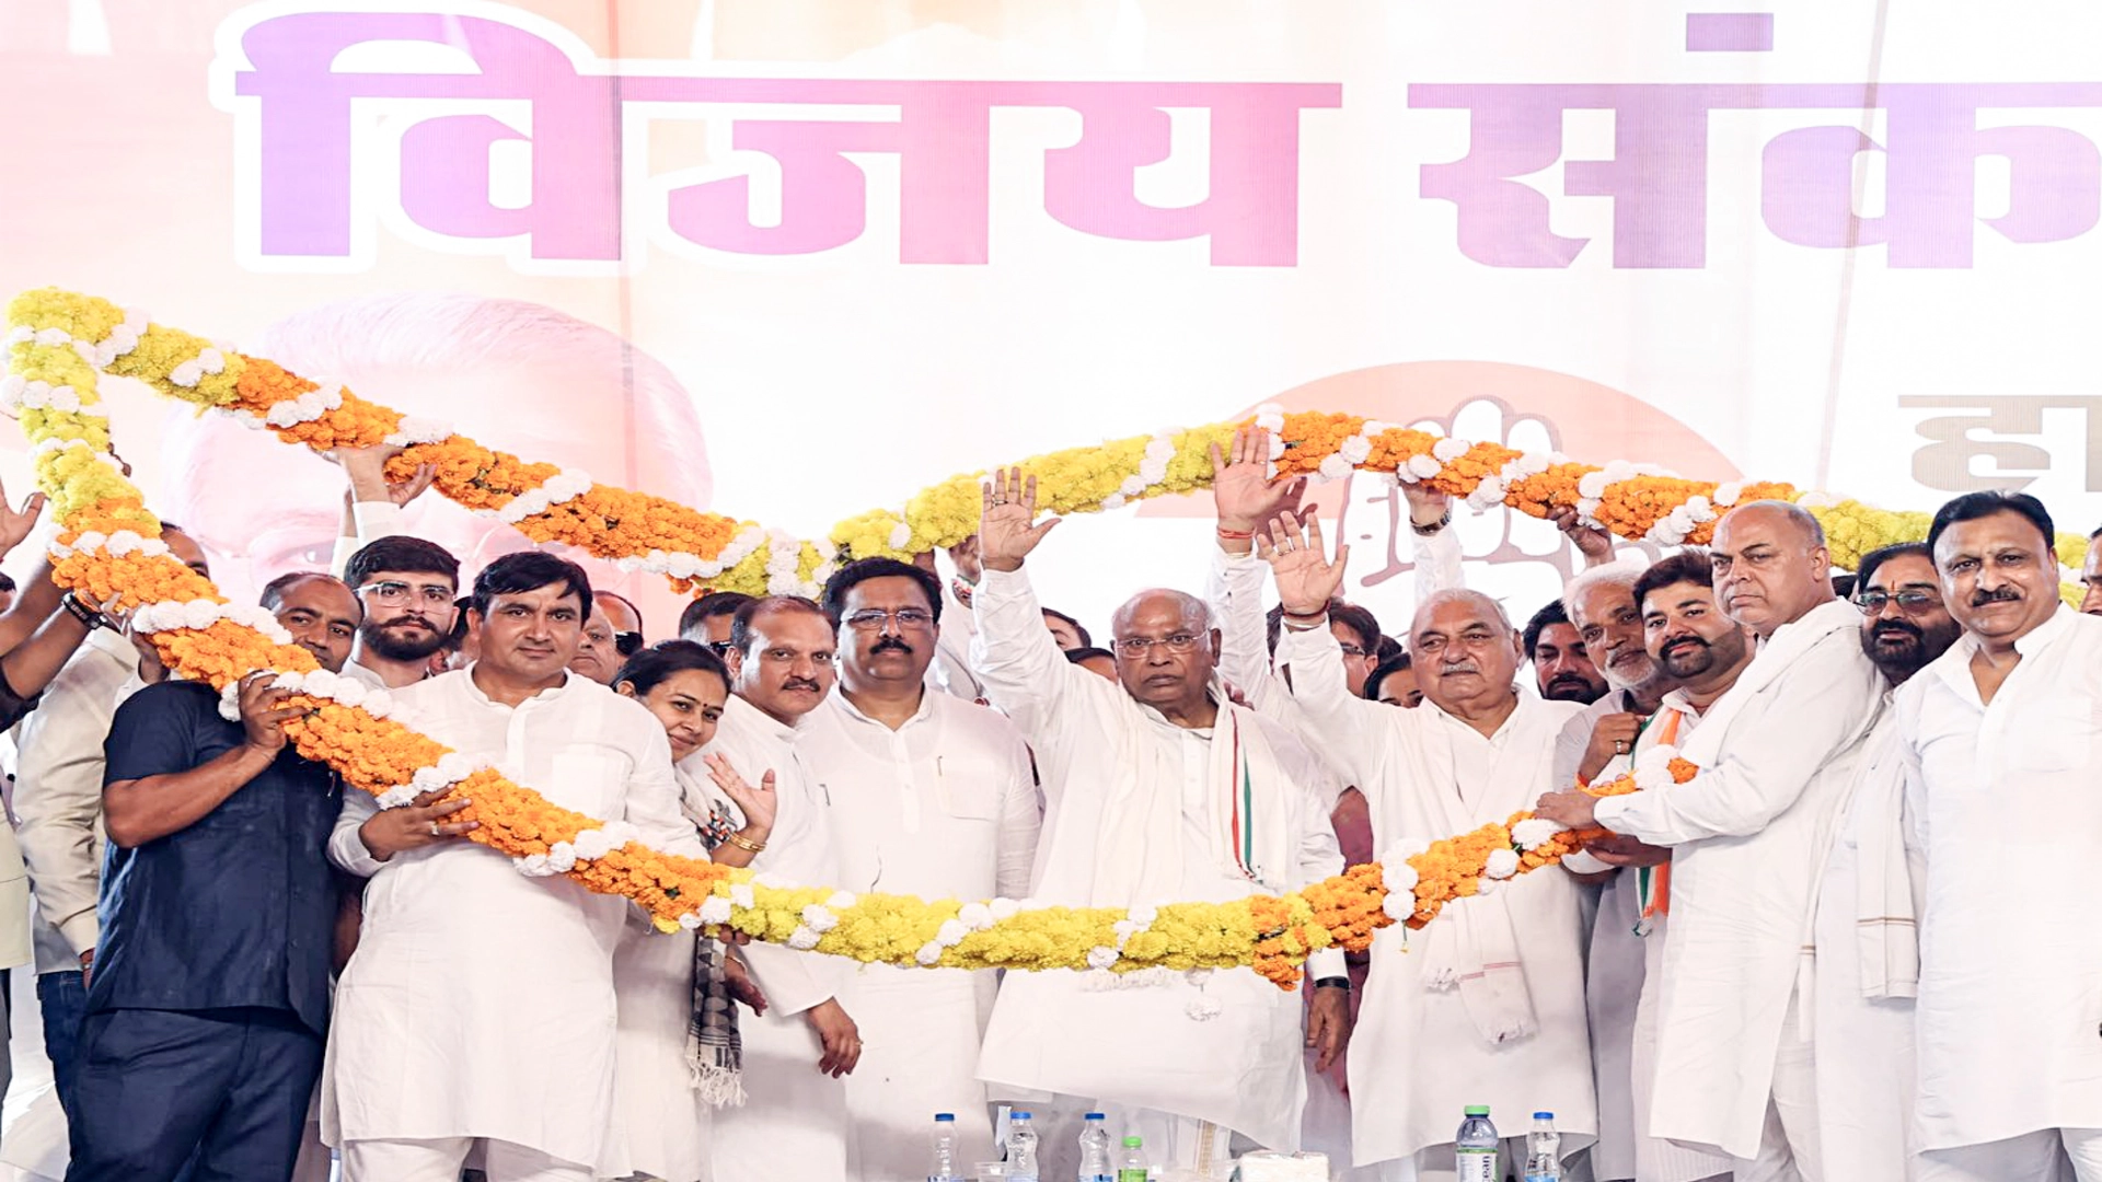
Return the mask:
<svg viewBox="0 0 2102 1182">
<path fill-rule="evenodd" d="M 1602 827 L 1673 848 L 1652 1136 L 1759 1150 L 1831 827 L 1883 698 L 1858 633 L 1841 599 L 1785 625 L 1682 740 L 1701 776 L 1598 801 Z"/>
</svg>

